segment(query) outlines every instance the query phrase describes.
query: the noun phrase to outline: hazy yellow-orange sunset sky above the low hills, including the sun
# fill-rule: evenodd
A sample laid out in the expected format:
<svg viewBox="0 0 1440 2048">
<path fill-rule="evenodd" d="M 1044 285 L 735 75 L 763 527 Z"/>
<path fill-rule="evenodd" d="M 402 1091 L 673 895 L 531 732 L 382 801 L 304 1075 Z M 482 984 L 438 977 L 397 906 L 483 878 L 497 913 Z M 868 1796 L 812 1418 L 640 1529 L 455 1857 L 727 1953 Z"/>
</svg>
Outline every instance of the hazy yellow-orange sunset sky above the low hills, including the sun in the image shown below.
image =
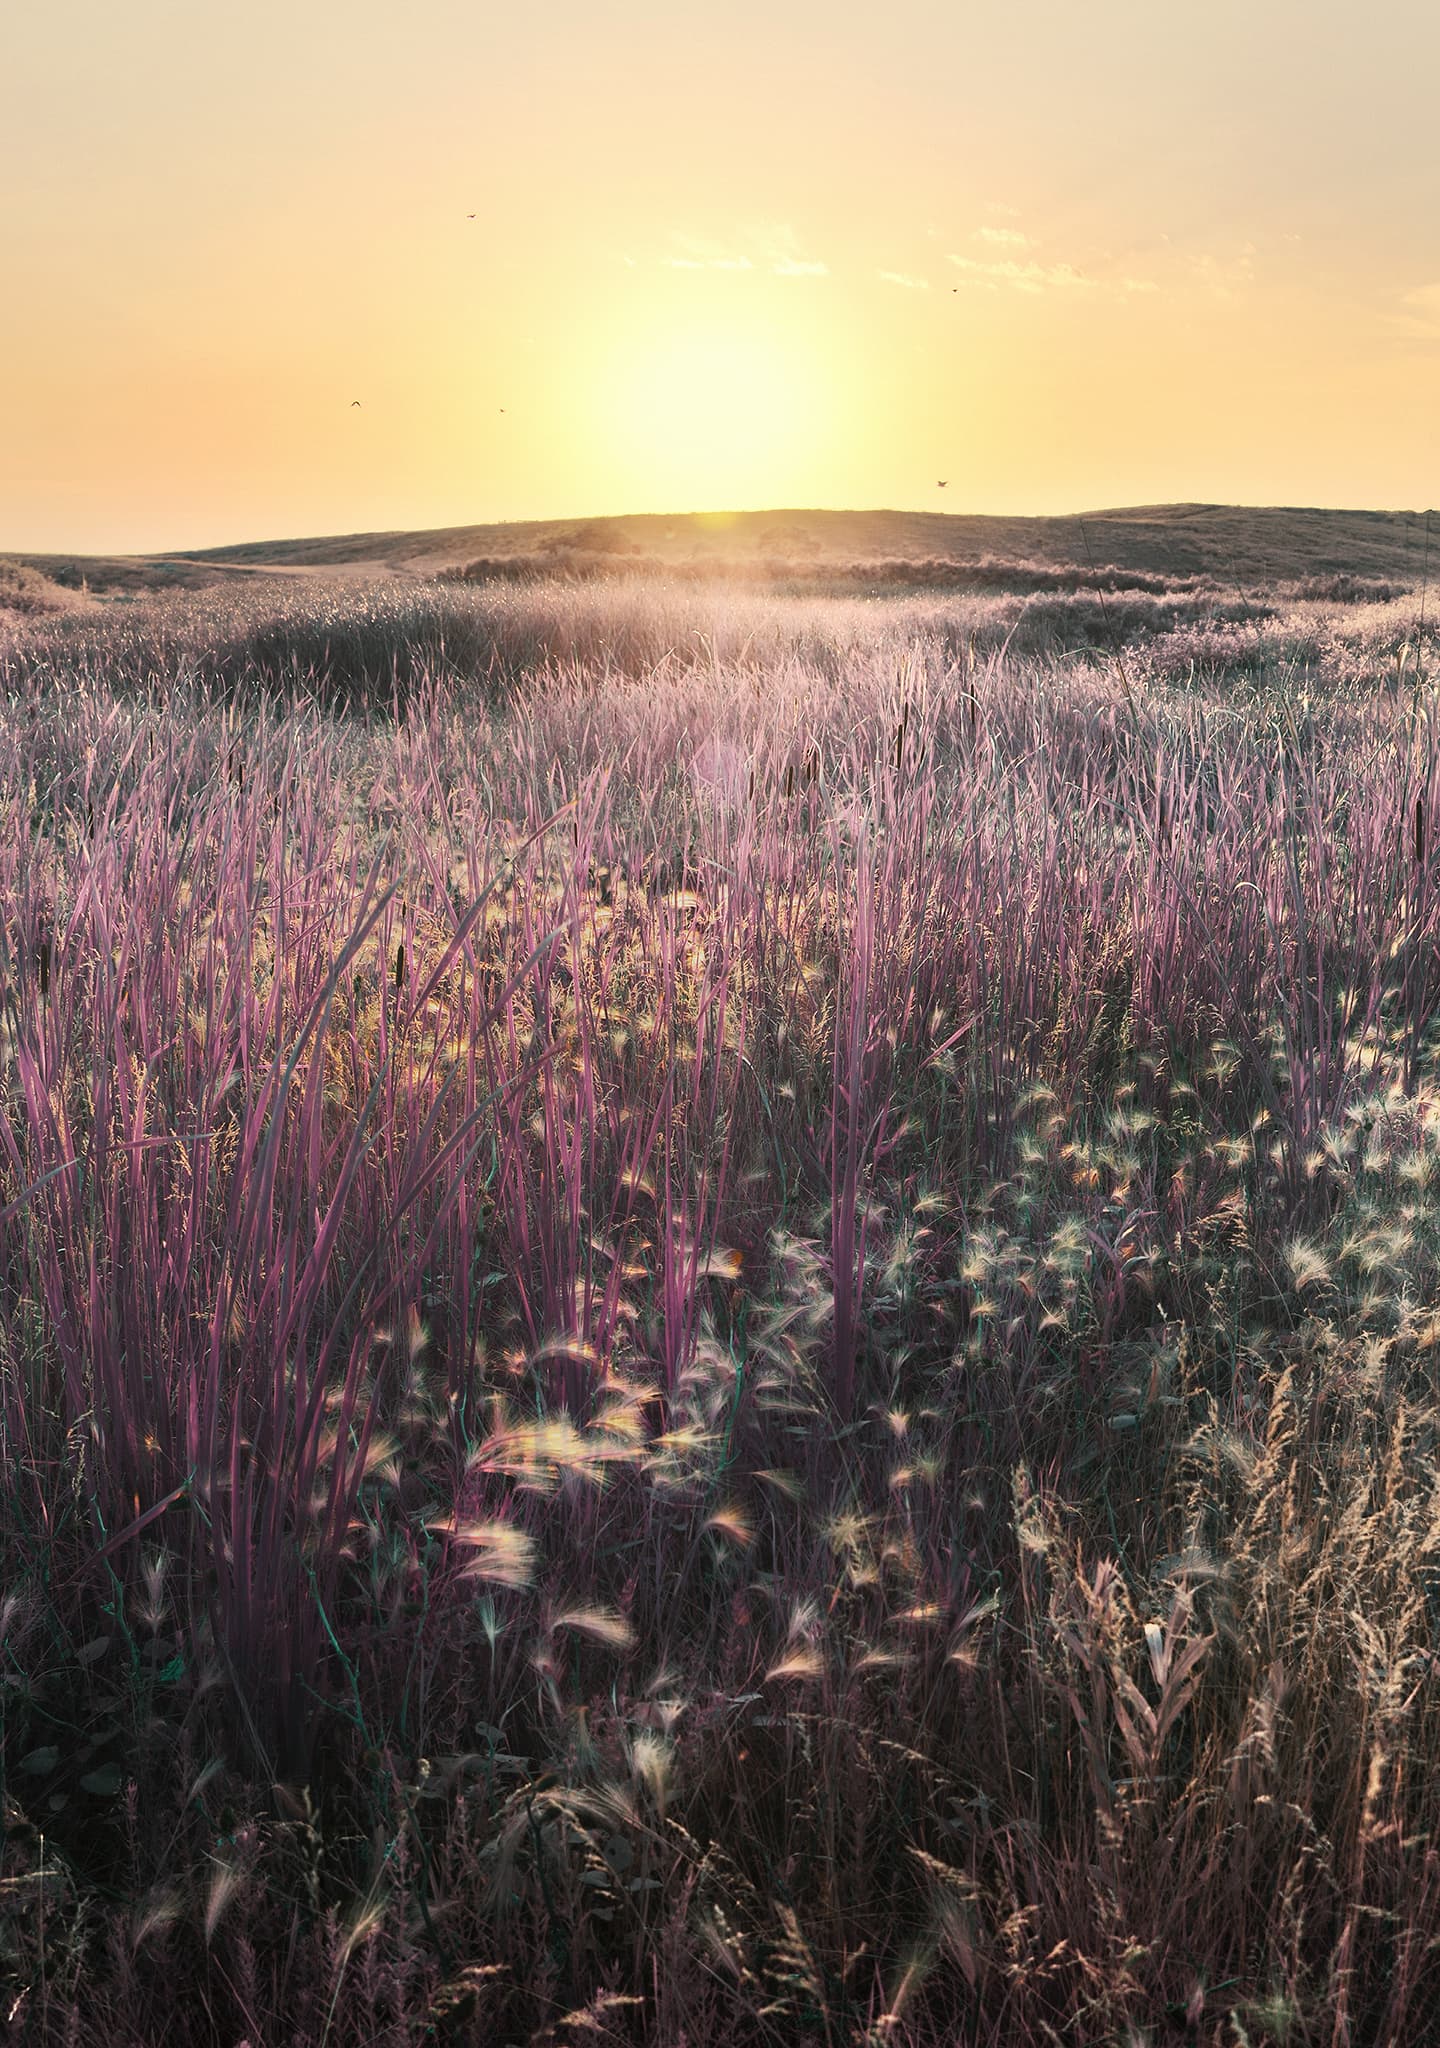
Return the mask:
<svg viewBox="0 0 1440 2048">
<path fill-rule="evenodd" d="M 1424 508 L 1438 78 L 1434 0 L 12 0 L 0 549 Z"/>
</svg>

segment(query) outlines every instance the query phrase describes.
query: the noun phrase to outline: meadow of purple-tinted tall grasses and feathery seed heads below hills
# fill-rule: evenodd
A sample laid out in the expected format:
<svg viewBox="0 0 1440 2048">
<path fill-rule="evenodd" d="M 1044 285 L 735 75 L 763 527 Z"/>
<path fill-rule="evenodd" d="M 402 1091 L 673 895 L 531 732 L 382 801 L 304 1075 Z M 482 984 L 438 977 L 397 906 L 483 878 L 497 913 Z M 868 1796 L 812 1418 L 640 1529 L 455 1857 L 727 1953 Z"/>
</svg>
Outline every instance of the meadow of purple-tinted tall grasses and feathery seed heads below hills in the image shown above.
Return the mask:
<svg viewBox="0 0 1440 2048">
<path fill-rule="evenodd" d="M 1434 594 L 563 567 L 0 612 L 8 2036 L 1440 2038 Z"/>
</svg>

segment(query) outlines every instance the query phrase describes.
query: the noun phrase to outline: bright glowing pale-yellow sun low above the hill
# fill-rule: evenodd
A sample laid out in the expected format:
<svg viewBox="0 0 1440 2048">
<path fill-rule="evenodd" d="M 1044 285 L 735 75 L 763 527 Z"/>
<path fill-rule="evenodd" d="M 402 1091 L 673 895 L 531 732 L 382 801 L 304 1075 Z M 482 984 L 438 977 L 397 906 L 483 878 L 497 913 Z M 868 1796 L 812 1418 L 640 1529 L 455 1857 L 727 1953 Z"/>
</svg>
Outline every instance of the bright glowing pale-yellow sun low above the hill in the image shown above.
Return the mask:
<svg viewBox="0 0 1440 2048">
<path fill-rule="evenodd" d="M 631 338 L 594 401 L 596 455 L 619 498 L 676 510 L 803 496 L 830 410 L 813 352 L 762 319 Z"/>
</svg>

